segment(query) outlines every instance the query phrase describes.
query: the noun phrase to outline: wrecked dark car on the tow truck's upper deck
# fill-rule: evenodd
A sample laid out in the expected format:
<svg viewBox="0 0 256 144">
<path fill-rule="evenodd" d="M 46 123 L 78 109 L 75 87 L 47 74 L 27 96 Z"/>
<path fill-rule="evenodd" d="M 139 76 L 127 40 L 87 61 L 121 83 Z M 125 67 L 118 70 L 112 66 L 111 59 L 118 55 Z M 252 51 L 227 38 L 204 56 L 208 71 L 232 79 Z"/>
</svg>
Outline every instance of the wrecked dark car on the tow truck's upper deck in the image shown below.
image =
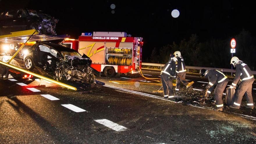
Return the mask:
<svg viewBox="0 0 256 144">
<path fill-rule="evenodd" d="M 57 23 L 58 19 L 36 10 L 7 10 L 0 13 L 0 35 L 30 29 L 39 30 L 40 34 L 56 35 Z"/>
</svg>

